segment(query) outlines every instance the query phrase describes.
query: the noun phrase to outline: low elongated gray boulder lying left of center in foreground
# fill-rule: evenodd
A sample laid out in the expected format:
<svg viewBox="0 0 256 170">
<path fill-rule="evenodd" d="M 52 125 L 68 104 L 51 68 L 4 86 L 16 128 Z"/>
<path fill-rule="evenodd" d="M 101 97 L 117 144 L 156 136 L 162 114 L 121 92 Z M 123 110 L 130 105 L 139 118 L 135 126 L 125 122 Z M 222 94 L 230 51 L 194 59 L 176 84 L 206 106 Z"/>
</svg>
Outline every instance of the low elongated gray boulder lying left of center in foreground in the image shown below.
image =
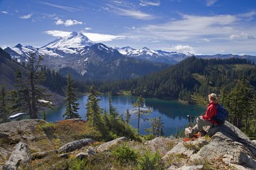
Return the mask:
<svg viewBox="0 0 256 170">
<path fill-rule="evenodd" d="M 58 152 L 59 153 L 72 152 L 74 150 L 79 150 L 83 146 L 87 146 L 90 143 L 94 143 L 94 140 L 89 138 L 89 139 L 80 139 L 78 141 L 72 141 L 70 143 L 67 143 L 66 145 L 61 146 Z"/>
</svg>

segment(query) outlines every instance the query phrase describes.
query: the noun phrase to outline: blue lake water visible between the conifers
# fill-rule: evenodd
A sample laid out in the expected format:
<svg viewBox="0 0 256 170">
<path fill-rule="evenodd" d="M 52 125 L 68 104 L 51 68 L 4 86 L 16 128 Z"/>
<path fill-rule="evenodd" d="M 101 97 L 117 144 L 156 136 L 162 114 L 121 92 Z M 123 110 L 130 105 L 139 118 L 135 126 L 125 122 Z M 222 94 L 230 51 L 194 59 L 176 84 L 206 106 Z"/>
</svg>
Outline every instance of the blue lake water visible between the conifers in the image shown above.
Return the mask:
<svg viewBox="0 0 256 170">
<path fill-rule="evenodd" d="M 137 100 L 137 97 L 132 96 L 117 96 L 112 97 L 113 105 L 117 108 L 119 114 L 126 113 L 126 109 L 129 109 L 132 114 L 132 103 Z M 85 103 L 87 103 L 87 96 L 83 96 L 78 100 L 80 104 L 79 114 L 85 120 Z M 100 101 L 100 107 L 109 111 L 109 96 L 103 95 Z M 147 118 L 162 118 L 163 125 L 165 126 L 165 136 L 175 135 L 177 131 L 180 131 L 188 124 L 187 115 L 199 116 L 205 112 L 205 107 L 198 105 L 189 105 L 186 103 L 180 103 L 179 101 L 164 101 L 159 99 L 145 99 L 145 107 L 152 109 L 152 114 Z M 57 120 L 63 120 L 62 114 L 65 112 L 65 104 L 60 107 L 49 110 L 46 113 L 46 119 L 48 122 L 55 122 Z M 137 118 L 132 114 L 131 123 L 134 128 L 137 128 Z M 144 129 L 150 127 L 150 122 L 141 121 L 140 133 L 145 134 Z"/>
</svg>

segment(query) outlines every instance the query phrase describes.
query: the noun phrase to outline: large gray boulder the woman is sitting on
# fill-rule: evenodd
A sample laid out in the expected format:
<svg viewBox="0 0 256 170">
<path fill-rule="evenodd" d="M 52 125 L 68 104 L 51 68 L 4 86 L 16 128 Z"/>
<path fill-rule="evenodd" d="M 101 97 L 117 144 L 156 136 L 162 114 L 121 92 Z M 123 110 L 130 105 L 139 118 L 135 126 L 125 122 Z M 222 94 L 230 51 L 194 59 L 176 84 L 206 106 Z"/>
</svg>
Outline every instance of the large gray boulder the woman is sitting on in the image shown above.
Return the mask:
<svg viewBox="0 0 256 170">
<path fill-rule="evenodd" d="M 190 159 L 223 158 L 227 164 L 256 169 L 256 145 L 236 126 L 226 121 L 225 124 L 209 129 L 208 134 L 212 135 L 210 143 Z"/>
</svg>

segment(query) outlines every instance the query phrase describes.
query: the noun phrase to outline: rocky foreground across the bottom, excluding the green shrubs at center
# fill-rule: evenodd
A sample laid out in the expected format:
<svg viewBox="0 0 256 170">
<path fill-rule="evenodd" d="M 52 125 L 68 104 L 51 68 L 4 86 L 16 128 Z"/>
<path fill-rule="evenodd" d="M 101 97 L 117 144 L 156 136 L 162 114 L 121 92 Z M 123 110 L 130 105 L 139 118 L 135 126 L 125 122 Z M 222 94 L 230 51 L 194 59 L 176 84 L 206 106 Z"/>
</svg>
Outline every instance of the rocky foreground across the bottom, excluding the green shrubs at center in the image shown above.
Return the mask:
<svg viewBox="0 0 256 170">
<path fill-rule="evenodd" d="M 42 169 L 47 164 L 53 169 L 68 169 L 65 160 L 69 158 L 87 159 L 128 143 L 135 150 L 160 152 L 165 169 L 256 169 L 256 142 L 229 122 L 198 139 L 157 137 L 143 143 L 126 137 L 108 142 L 87 137 L 63 143 L 56 131 L 44 120 L 0 124 L 0 167 Z"/>
</svg>

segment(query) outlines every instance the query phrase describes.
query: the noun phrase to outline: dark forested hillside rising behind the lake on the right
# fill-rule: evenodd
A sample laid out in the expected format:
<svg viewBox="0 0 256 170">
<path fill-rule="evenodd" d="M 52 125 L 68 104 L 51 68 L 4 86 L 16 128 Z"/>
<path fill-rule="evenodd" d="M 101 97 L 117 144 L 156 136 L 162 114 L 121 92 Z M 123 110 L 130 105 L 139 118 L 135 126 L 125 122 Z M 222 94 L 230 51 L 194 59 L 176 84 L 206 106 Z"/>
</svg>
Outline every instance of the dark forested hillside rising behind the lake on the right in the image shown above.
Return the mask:
<svg viewBox="0 0 256 170">
<path fill-rule="evenodd" d="M 191 95 L 219 94 L 221 87 L 232 88 L 242 78 L 256 87 L 256 65 L 246 59 L 201 59 L 184 61 L 143 78 L 104 84 L 102 91 L 130 90 L 132 95 L 192 102 Z"/>
</svg>

